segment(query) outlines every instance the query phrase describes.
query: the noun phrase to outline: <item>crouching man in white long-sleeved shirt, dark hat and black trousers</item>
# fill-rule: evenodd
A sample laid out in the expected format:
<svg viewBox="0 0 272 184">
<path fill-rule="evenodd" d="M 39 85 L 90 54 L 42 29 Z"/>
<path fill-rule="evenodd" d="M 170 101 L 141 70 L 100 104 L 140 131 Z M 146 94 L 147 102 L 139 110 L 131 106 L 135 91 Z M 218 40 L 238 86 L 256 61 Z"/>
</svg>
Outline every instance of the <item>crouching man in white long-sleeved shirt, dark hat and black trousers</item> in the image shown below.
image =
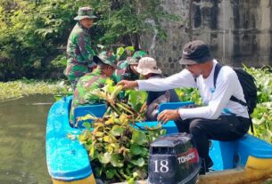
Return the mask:
<svg viewBox="0 0 272 184">
<path fill-rule="evenodd" d="M 138 87 L 143 91 L 162 91 L 178 87 L 197 87 L 203 106 L 164 110 L 158 116 L 163 123 L 175 120 L 179 132 L 194 135 L 196 147 L 206 164 L 206 171 L 212 165 L 209 156 L 209 140 L 235 140 L 241 138 L 250 127 L 247 108 L 230 100 L 235 96 L 244 100 L 243 88 L 235 71 L 227 66 L 220 69 L 214 86 L 214 68 L 217 60 L 210 55 L 210 48 L 201 40 L 184 46 L 182 59 L 185 69 L 161 79 L 121 81 L 124 89 Z M 205 171 L 203 171 L 205 172 Z"/>
</svg>

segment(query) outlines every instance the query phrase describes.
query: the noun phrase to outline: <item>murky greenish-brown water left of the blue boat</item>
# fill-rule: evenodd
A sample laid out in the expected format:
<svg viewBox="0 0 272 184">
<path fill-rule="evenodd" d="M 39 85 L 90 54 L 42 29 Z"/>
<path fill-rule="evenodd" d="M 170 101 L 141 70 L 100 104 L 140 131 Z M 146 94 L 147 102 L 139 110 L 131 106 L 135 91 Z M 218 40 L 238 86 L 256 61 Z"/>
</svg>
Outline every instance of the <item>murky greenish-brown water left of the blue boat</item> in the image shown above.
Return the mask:
<svg viewBox="0 0 272 184">
<path fill-rule="evenodd" d="M 0 102 L 0 183 L 51 184 L 45 129 L 51 95 Z"/>
</svg>

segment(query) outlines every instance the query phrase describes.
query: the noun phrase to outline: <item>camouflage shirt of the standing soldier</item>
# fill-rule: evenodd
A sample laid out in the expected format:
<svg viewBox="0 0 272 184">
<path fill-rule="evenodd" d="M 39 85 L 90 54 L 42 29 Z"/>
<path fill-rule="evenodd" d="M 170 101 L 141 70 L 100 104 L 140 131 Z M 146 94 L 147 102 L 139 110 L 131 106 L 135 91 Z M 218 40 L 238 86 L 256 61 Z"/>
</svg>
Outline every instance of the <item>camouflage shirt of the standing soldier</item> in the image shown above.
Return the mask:
<svg viewBox="0 0 272 184">
<path fill-rule="evenodd" d="M 67 44 L 67 68 L 65 75 L 70 81 L 84 76 L 93 67 L 94 50 L 91 47 L 91 36 L 87 28 L 79 23 L 72 29 Z"/>
</svg>

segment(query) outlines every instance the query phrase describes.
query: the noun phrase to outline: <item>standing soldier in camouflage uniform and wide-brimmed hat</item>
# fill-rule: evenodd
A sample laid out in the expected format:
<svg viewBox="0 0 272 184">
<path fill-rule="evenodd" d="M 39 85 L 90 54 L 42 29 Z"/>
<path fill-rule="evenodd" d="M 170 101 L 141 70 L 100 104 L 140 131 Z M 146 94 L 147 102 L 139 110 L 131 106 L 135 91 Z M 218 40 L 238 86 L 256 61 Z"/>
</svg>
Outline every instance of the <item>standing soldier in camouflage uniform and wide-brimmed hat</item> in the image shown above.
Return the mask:
<svg viewBox="0 0 272 184">
<path fill-rule="evenodd" d="M 91 36 L 89 33 L 95 18 L 94 12 L 90 7 L 79 8 L 78 16 L 74 18 L 74 20 L 78 20 L 78 23 L 70 32 L 68 39 L 68 60 L 65 70 L 65 76 L 70 80 L 73 89 L 75 89 L 79 77 L 92 71 L 95 65 L 92 60 L 95 52 L 91 47 Z"/>
</svg>

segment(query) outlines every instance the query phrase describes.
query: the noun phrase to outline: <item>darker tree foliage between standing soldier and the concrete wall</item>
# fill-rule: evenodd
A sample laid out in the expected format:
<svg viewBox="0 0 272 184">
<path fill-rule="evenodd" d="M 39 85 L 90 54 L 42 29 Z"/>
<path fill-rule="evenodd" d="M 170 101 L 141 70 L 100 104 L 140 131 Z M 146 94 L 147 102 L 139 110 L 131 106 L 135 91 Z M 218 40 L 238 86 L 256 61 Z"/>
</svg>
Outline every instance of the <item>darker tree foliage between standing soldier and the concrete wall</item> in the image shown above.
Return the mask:
<svg viewBox="0 0 272 184">
<path fill-rule="evenodd" d="M 146 20 L 153 20 L 160 36 L 165 36 L 161 29 L 161 20 L 177 20 L 161 7 L 161 0 L 94 0 L 95 12 L 99 16 L 97 26 L 102 28 L 103 36 L 99 39 L 103 44 L 133 45 L 138 50 L 140 34 L 152 32 L 152 25 Z"/>
</svg>

